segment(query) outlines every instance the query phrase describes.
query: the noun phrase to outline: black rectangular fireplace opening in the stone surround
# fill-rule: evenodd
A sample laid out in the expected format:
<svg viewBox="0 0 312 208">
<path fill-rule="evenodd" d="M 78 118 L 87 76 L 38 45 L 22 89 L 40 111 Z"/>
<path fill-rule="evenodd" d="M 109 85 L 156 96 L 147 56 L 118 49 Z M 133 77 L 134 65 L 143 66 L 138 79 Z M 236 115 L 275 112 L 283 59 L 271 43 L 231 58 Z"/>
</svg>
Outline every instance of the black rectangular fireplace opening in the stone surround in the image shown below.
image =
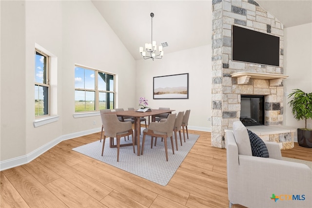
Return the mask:
<svg viewBox="0 0 312 208">
<path fill-rule="evenodd" d="M 240 121 L 243 125 L 264 125 L 264 96 L 241 95 L 240 97 Z"/>
</svg>

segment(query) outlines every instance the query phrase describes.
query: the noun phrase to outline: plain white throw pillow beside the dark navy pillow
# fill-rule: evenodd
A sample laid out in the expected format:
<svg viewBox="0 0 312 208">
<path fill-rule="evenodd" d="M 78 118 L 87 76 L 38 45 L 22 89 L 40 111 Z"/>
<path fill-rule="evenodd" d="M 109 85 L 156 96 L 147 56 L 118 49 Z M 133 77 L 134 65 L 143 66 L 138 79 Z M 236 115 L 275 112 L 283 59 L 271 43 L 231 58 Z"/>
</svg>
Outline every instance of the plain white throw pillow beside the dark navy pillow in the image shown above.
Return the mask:
<svg viewBox="0 0 312 208">
<path fill-rule="evenodd" d="M 252 156 L 247 128 L 241 121 L 233 122 L 233 134 L 238 148 L 238 154 Z"/>
</svg>

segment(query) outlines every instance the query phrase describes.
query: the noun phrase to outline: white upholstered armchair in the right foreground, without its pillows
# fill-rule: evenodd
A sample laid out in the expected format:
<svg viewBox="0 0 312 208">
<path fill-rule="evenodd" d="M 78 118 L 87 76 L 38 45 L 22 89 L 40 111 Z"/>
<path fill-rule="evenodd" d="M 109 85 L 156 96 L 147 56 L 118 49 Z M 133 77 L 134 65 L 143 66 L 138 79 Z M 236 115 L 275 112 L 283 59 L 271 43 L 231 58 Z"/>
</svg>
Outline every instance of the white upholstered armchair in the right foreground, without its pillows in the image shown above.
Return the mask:
<svg viewBox="0 0 312 208">
<path fill-rule="evenodd" d="M 239 154 L 241 144 L 234 134 L 232 130 L 226 131 L 230 207 L 233 204 L 248 208 L 312 207 L 309 166 L 281 160 L 279 145 L 273 142 L 264 142 L 269 158 Z"/>
</svg>

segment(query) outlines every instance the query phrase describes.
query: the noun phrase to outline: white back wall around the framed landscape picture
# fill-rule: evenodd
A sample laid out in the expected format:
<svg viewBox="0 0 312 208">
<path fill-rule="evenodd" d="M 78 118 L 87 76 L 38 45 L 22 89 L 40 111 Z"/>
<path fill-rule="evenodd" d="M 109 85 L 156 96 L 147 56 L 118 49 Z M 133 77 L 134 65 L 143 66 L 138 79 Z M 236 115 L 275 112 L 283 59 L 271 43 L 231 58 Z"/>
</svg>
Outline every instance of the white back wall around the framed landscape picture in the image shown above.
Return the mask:
<svg viewBox="0 0 312 208">
<path fill-rule="evenodd" d="M 170 107 L 176 113 L 191 109 L 189 128 L 210 131 L 211 45 L 166 54 L 160 60 L 137 61 L 136 107 L 140 97 L 152 108 Z M 153 100 L 153 77 L 189 73 L 189 99 Z M 175 113 L 174 112 L 174 113 Z"/>
</svg>

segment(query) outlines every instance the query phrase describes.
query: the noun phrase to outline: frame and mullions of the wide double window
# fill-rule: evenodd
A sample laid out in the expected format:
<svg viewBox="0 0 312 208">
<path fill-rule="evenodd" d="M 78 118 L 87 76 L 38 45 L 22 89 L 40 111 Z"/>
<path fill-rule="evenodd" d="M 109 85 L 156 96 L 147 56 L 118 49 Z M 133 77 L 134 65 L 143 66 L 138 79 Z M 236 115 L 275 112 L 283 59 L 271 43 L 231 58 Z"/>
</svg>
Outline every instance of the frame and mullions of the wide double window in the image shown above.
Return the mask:
<svg viewBox="0 0 312 208">
<path fill-rule="evenodd" d="M 77 118 L 80 117 L 80 116 L 77 116 L 77 114 L 80 114 L 80 115 L 88 115 L 88 114 L 90 114 L 90 115 L 92 115 L 93 113 L 98 112 L 100 110 L 99 109 L 99 102 L 100 102 L 99 101 L 99 93 L 101 93 L 101 92 L 113 93 L 114 94 L 113 108 L 112 108 L 112 109 L 114 109 L 115 106 L 116 106 L 116 93 L 117 93 L 116 92 L 116 74 L 113 74 L 113 73 L 110 73 L 110 72 L 106 72 L 106 71 L 103 71 L 103 70 L 99 70 L 99 69 L 96 69 L 96 68 L 80 65 L 80 64 L 75 64 L 74 68 L 76 69 L 76 67 L 87 69 L 87 70 L 92 70 L 95 73 L 95 86 L 94 86 L 94 89 L 87 89 L 87 88 L 85 88 L 85 86 L 84 86 L 84 88 L 76 88 L 76 85 L 75 85 L 75 92 L 76 92 L 76 90 L 77 91 L 84 91 L 84 92 L 86 92 L 86 91 L 95 92 L 95 110 L 76 111 L 76 98 L 75 98 L 74 108 L 75 108 L 75 115 L 76 116 L 74 115 L 74 117 L 75 118 L 76 117 Z M 99 90 L 98 89 L 98 72 L 101 72 L 101 73 L 113 76 L 113 81 L 114 81 L 114 83 L 113 83 L 113 91 L 107 90 L 107 88 L 106 88 L 106 90 Z M 74 76 L 74 77 L 76 78 L 76 76 Z M 85 82 L 85 80 L 84 80 L 84 82 Z M 107 103 L 109 105 L 107 105 Z M 107 108 L 107 106 L 110 106 L 110 101 L 108 101 L 108 102 L 106 101 L 106 108 L 103 108 L 103 109 L 111 109 L 111 108 Z"/>
</svg>

